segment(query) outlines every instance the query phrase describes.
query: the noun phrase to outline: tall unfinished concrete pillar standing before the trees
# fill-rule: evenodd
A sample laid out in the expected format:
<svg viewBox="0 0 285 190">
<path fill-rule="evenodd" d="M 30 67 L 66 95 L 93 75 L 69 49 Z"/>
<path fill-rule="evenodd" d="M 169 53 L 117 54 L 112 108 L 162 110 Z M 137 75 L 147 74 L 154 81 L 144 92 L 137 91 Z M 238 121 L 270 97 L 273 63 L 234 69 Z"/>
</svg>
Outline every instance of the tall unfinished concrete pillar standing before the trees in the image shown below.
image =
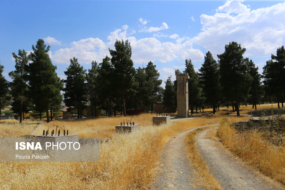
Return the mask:
<svg viewBox="0 0 285 190">
<path fill-rule="evenodd" d="M 189 117 L 188 103 L 188 73 L 182 73 L 176 76 L 177 80 L 177 116 Z"/>
</svg>

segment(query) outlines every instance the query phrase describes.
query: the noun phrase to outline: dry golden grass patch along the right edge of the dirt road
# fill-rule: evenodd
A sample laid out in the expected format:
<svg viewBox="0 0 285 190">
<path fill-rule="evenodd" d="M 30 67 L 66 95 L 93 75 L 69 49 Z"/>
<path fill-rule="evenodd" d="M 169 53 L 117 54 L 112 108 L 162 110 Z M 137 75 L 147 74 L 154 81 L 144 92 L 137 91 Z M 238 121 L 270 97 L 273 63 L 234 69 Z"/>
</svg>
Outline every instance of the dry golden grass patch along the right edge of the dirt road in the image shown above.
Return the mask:
<svg viewBox="0 0 285 190">
<path fill-rule="evenodd" d="M 227 120 L 218 129 L 223 144 L 265 175 L 285 184 L 285 145 L 274 146 L 256 130 L 238 132 Z"/>
</svg>

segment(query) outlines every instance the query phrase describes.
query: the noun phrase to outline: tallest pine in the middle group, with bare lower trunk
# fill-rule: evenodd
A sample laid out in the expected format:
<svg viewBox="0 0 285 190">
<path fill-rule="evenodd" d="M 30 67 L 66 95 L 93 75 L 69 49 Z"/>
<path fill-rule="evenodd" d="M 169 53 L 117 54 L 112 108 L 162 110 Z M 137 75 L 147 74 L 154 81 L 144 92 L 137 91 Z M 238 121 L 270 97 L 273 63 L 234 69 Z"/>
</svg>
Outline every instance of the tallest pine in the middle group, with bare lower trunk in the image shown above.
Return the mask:
<svg viewBox="0 0 285 190">
<path fill-rule="evenodd" d="M 116 40 L 115 50 L 109 48 L 111 64 L 114 66 L 114 83 L 116 83 L 116 91 L 119 92 L 123 100 L 123 112 L 126 116 L 125 99 L 133 94 L 134 75 L 136 73 L 131 60 L 132 48 L 128 40 L 125 42 Z"/>
</svg>

